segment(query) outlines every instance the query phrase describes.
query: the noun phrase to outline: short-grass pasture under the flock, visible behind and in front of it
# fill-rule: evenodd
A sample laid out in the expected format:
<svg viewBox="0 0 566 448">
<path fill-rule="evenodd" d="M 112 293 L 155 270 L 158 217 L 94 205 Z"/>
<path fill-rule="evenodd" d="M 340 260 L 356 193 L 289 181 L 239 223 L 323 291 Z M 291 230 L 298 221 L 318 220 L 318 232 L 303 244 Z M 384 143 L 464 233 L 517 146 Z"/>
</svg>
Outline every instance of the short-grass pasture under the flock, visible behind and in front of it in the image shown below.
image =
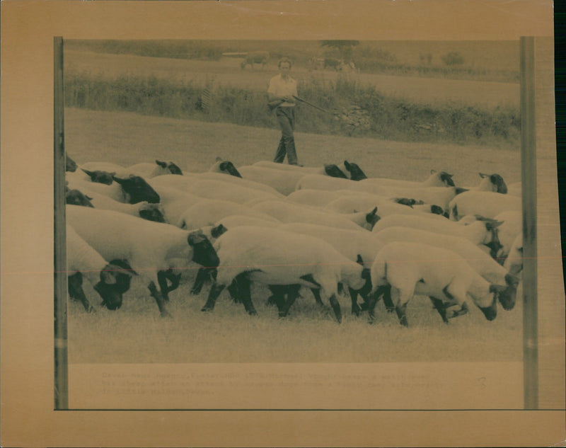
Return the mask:
<svg viewBox="0 0 566 448">
<path fill-rule="evenodd" d="M 110 161 L 129 166 L 154 159 L 173 160 L 184 171 L 207 171 L 216 156 L 236 166 L 270 160 L 279 131 L 133 113 L 65 111 L 66 149 L 77 163 Z M 296 133 L 300 163 L 355 161 L 368 176 L 424 180 L 432 168 L 454 174 L 456 185 L 477 185 L 478 172 L 497 172 L 507 183 L 520 180 L 518 151 L 456 144 L 420 144 L 379 139 Z M 104 231 L 101 229 L 101 231 Z M 111 231 L 111 229 L 108 229 Z M 187 362 L 507 362 L 522 356 L 521 301 L 495 321 L 470 305 L 470 313 L 444 325 L 429 299 L 408 305 L 410 328 L 402 328 L 383 304 L 376 323 L 350 314 L 350 299 L 340 297 L 342 324 L 330 306 L 320 309 L 311 292 L 301 292 L 288 318 L 267 306 L 267 289 L 253 287 L 258 316 L 248 316 L 226 292 L 214 312 L 203 314 L 209 286 L 189 293 L 195 270 L 186 270 L 171 293 L 173 318 L 159 318 L 154 299 L 132 282 L 118 311 L 98 306 L 86 314 L 69 303 L 70 363 Z M 94 297 L 86 285 L 85 292 Z M 518 297 L 521 294 L 519 288 Z"/>
</svg>

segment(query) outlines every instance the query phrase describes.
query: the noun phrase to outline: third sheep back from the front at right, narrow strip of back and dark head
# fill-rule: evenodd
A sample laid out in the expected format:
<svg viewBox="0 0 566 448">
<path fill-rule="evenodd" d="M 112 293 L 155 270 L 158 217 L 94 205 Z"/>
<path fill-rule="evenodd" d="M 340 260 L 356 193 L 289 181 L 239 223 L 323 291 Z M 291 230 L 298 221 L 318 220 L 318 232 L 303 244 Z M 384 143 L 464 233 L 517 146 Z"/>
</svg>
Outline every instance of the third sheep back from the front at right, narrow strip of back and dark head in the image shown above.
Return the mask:
<svg viewBox="0 0 566 448">
<path fill-rule="evenodd" d="M 490 248 L 490 255 L 495 258 L 501 243 L 497 235 L 497 228 L 502 222 L 493 219 L 484 221 L 476 221 L 468 226 L 461 226 L 456 222 L 451 222 L 448 219 L 435 219 L 428 214 L 420 216 L 407 217 L 403 214 L 391 214 L 388 217 L 383 217 L 372 229 L 373 232 L 379 232 L 391 226 L 412 227 L 413 229 L 420 229 L 432 231 L 443 235 L 461 236 L 468 239 L 476 246 L 487 246 Z"/>
</svg>

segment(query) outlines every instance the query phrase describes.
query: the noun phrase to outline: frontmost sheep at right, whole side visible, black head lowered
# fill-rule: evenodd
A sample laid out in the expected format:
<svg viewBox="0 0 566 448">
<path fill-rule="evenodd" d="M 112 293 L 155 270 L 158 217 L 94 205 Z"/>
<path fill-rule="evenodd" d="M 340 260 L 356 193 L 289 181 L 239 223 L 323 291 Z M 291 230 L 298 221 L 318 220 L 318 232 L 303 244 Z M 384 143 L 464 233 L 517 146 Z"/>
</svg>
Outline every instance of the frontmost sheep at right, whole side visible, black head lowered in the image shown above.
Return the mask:
<svg viewBox="0 0 566 448">
<path fill-rule="evenodd" d="M 404 241 L 387 243 L 381 248 L 371 266 L 371 285 L 367 304 L 371 321 L 380 290 L 391 286 L 399 323 L 405 327 L 408 326 L 407 304 L 414 294 L 434 298 L 434 306 L 443 321 L 446 321 L 443 302 L 455 302 L 466 311 L 466 294 L 469 294 L 485 318 L 492 321 L 497 317 L 497 293 L 503 289 L 487 282 L 453 251 Z"/>
</svg>

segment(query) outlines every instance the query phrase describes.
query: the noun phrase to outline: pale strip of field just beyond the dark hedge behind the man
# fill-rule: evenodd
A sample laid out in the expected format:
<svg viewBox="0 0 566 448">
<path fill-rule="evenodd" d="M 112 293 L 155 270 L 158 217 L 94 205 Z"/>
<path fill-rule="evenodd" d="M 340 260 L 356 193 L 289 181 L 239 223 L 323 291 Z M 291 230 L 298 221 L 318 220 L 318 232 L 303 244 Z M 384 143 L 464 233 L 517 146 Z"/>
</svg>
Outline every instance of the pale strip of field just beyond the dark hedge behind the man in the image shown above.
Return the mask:
<svg viewBox="0 0 566 448">
<path fill-rule="evenodd" d="M 266 69 L 240 68 L 241 59 L 223 58 L 218 62 L 196 61 L 187 59 L 168 59 L 158 57 L 141 57 L 131 54 L 105 54 L 96 52 L 65 52 L 65 69 L 69 72 L 90 71 L 105 77 L 120 75 L 157 76 L 176 81 L 196 84 L 219 83 L 231 84 L 253 90 L 267 90 L 271 76 L 277 73 L 275 64 Z M 294 69 L 296 79 L 318 81 L 335 81 L 339 74 L 336 71 L 302 68 Z M 406 98 L 417 103 L 466 103 L 483 107 L 498 105 L 519 105 L 519 84 L 461 81 L 455 79 L 422 78 L 415 76 L 391 76 L 376 74 L 359 74 L 362 84 L 376 86 L 386 95 Z"/>
</svg>

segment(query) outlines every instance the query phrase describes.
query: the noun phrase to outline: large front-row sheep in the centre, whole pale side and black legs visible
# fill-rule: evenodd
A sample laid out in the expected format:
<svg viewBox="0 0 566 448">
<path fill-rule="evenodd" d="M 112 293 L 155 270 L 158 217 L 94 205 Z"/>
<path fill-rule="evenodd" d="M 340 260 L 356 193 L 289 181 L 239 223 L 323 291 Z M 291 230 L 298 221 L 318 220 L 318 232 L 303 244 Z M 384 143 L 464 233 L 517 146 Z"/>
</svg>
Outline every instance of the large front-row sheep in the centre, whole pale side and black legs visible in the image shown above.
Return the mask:
<svg viewBox="0 0 566 448">
<path fill-rule="evenodd" d="M 364 274 L 361 265 L 311 236 L 241 226 L 221 235 L 214 248 L 220 263 L 202 311 L 212 311 L 222 290 L 233 282 L 246 311 L 252 315 L 257 312 L 250 297 L 250 281 L 265 285 L 302 285 L 320 289 L 328 297 L 340 323 L 342 311 L 336 299 L 338 282 L 352 289 L 362 289 L 369 280 L 369 272 Z M 286 315 L 291 304 L 291 301 L 279 304 L 279 314 Z"/>
</svg>

